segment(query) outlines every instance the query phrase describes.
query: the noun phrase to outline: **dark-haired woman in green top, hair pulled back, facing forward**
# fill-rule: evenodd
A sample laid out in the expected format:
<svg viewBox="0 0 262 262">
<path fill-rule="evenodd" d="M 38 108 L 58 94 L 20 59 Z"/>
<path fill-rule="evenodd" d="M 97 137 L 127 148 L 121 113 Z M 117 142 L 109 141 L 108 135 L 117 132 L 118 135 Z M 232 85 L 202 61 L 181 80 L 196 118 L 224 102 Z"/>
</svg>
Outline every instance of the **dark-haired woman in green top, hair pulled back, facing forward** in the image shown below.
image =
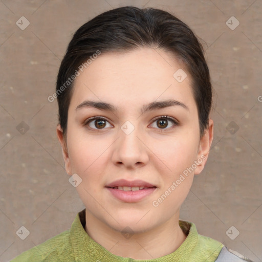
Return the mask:
<svg viewBox="0 0 262 262">
<path fill-rule="evenodd" d="M 250 261 L 179 220 L 213 139 L 203 47 L 180 19 L 136 7 L 96 16 L 69 43 L 56 97 L 85 209 L 13 261 Z"/>
</svg>

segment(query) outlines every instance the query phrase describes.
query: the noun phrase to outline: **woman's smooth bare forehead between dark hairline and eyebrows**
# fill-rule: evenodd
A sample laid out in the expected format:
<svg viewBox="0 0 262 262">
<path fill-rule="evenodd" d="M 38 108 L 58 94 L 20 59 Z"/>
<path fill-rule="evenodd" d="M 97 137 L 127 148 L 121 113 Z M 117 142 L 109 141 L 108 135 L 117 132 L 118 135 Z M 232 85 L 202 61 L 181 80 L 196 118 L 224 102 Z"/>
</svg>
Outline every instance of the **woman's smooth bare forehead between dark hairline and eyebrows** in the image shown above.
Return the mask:
<svg viewBox="0 0 262 262">
<path fill-rule="evenodd" d="M 184 72 L 187 77 L 179 82 L 176 72 Z M 84 99 L 124 107 L 171 98 L 194 106 L 189 74 L 181 61 L 164 50 L 101 53 L 79 73 L 71 100 L 74 106 Z"/>
</svg>

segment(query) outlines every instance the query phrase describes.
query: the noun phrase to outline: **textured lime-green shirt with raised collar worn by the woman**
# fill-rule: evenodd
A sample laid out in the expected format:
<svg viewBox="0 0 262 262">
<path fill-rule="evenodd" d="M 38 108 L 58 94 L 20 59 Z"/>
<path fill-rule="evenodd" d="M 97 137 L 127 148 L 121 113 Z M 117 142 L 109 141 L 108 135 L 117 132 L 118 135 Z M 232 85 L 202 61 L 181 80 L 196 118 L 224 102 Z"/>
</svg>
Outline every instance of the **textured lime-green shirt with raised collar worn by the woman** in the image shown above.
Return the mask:
<svg viewBox="0 0 262 262">
<path fill-rule="evenodd" d="M 83 209 L 76 215 L 70 230 L 21 253 L 11 262 L 214 262 L 224 245 L 198 234 L 192 222 L 180 220 L 179 226 L 187 237 L 176 251 L 155 259 L 137 260 L 114 255 L 95 242 L 84 230 Z"/>
</svg>

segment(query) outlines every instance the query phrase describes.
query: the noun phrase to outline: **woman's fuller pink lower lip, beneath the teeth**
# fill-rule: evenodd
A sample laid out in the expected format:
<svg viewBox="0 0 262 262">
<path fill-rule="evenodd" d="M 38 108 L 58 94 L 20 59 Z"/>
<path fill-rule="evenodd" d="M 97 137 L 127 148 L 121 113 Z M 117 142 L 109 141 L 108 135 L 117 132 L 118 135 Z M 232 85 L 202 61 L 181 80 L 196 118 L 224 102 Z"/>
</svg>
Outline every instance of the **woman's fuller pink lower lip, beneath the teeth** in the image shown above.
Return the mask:
<svg viewBox="0 0 262 262">
<path fill-rule="evenodd" d="M 117 199 L 132 203 L 132 202 L 138 202 L 148 195 L 150 195 L 152 192 L 154 192 L 157 188 L 156 187 L 150 187 L 147 189 L 141 189 L 137 191 L 124 191 L 119 189 L 114 189 L 111 187 L 106 187 Z"/>
</svg>

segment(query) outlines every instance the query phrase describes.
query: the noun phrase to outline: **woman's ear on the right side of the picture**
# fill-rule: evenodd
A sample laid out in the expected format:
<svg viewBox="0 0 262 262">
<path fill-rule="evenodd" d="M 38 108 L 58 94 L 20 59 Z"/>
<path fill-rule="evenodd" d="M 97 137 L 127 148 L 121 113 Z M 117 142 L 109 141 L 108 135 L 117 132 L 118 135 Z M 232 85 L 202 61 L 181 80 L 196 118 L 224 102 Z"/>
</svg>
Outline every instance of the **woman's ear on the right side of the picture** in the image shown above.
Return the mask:
<svg viewBox="0 0 262 262">
<path fill-rule="evenodd" d="M 198 156 L 195 161 L 195 164 L 197 164 L 197 168 L 195 168 L 194 174 L 200 174 L 205 167 L 210 146 L 213 141 L 213 127 L 214 122 L 212 119 L 209 119 L 208 128 L 206 129 L 203 137 L 200 139 Z"/>
</svg>

